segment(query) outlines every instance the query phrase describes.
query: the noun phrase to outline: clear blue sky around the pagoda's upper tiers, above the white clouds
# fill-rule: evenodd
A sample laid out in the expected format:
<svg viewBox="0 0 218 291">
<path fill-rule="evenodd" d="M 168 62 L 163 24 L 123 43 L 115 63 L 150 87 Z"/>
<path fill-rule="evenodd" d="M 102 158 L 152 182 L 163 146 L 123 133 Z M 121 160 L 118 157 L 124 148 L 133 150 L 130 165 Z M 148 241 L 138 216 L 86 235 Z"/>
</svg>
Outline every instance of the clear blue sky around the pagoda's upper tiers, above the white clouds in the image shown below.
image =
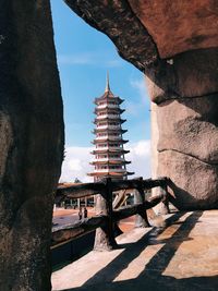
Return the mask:
<svg viewBox="0 0 218 291">
<path fill-rule="evenodd" d="M 122 117 L 128 120 L 123 124 L 128 129 L 124 138 L 132 144 L 149 140 L 149 101 L 143 74 L 119 57 L 106 35 L 87 25 L 63 1 L 51 0 L 51 8 L 66 149 L 92 146 L 93 100 L 104 94 L 107 71 L 111 90 L 125 100 L 122 104 L 126 109 Z"/>
</svg>

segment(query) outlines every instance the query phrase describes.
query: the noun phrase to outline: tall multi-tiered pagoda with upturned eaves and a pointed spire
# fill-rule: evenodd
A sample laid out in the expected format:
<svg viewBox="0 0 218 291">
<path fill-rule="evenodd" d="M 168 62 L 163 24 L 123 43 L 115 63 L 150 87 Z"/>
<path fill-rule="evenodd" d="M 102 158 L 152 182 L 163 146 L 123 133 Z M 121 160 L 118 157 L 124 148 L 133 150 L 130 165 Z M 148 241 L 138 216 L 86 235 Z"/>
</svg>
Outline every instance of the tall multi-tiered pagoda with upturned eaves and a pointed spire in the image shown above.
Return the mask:
<svg viewBox="0 0 218 291">
<path fill-rule="evenodd" d="M 126 179 L 129 174 L 134 172 L 126 171 L 126 161 L 124 155 L 130 150 L 125 150 L 123 145 L 129 141 L 123 140 L 122 135 L 126 130 L 122 129 L 125 120 L 121 119 L 121 114 L 125 111 L 120 108 L 123 100 L 114 96 L 110 90 L 109 76 L 107 75 L 106 89 L 101 97 L 95 99 L 95 140 L 93 144 L 95 149 L 90 153 L 95 159 L 90 162 L 95 167 L 94 171 L 88 175 L 94 177 L 94 181 L 100 181 L 102 178 L 111 178 L 112 180 Z"/>
</svg>

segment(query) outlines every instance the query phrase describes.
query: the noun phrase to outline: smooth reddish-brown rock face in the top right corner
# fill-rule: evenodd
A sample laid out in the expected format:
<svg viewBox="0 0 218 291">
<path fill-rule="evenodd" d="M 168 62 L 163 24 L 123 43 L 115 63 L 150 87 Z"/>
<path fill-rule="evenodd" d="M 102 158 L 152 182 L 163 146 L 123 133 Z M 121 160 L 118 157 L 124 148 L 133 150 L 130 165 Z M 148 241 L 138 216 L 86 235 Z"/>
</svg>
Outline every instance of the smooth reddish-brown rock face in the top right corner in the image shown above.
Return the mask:
<svg viewBox="0 0 218 291">
<path fill-rule="evenodd" d="M 129 0 L 161 58 L 218 46 L 218 2 L 210 0 Z"/>
</svg>

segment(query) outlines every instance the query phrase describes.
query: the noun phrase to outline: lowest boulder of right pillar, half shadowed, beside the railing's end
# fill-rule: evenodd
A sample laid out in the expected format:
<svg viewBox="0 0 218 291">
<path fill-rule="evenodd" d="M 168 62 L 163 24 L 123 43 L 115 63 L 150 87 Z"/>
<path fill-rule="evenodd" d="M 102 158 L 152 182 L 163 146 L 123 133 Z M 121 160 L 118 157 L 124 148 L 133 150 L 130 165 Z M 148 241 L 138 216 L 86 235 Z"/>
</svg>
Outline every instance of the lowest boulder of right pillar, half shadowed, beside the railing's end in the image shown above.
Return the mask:
<svg viewBox="0 0 218 291">
<path fill-rule="evenodd" d="M 158 154 L 158 173 L 170 177 L 169 192 L 179 209 L 218 207 L 218 166 L 175 150 Z"/>
</svg>

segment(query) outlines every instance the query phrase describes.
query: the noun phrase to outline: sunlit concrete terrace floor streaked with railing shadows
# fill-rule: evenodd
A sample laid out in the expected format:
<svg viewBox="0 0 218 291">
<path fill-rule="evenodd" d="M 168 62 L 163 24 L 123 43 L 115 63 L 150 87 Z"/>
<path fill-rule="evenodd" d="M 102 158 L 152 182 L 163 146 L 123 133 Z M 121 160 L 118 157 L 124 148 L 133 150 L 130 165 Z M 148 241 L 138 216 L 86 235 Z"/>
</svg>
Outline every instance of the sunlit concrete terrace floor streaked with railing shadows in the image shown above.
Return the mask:
<svg viewBox="0 0 218 291">
<path fill-rule="evenodd" d="M 133 229 L 119 248 L 90 252 L 52 274 L 52 290 L 218 290 L 218 210 L 166 216 L 164 229 Z"/>
</svg>

